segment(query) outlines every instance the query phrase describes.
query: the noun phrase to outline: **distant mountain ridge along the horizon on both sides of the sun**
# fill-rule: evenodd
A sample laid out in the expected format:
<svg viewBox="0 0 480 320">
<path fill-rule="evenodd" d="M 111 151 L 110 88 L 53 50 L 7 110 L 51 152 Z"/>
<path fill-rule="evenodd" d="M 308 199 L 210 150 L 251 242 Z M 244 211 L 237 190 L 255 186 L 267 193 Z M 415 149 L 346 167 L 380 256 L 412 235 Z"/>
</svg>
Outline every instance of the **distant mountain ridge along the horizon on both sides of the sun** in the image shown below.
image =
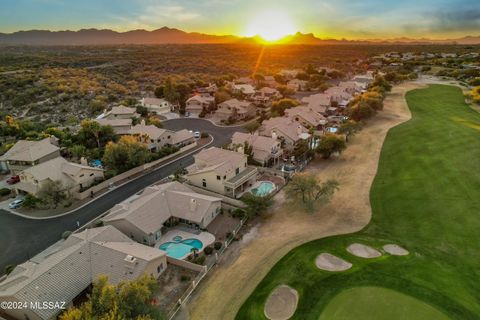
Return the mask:
<svg viewBox="0 0 480 320">
<path fill-rule="evenodd" d="M 238 37 L 233 35 L 210 35 L 198 32 L 185 32 L 175 28 L 131 30 L 117 32 L 110 29 L 81 29 L 78 31 L 29 30 L 14 33 L 0 33 L 0 45 L 120 45 L 120 44 L 200 44 L 200 43 L 254 43 L 258 37 Z M 297 32 L 281 39 L 285 44 L 327 45 L 327 44 L 480 44 L 480 36 L 466 36 L 458 39 L 320 39 L 312 33 Z"/>
</svg>

